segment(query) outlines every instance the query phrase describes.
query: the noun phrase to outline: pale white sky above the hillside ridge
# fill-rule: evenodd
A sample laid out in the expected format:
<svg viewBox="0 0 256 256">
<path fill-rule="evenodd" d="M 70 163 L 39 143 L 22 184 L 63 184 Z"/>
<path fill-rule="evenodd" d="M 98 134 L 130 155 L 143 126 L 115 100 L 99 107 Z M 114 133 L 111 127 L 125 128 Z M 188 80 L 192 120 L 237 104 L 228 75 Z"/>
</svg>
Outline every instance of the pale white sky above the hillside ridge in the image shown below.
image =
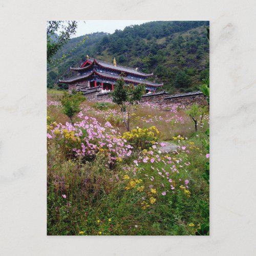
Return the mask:
<svg viewBox="0 0 256 256">
<path fill-rule="evenodd" d="M 140 25 L 151 20 L 84 20 L 77 24 L 76 34 L 73 37 L 94 32 L 114 33 L 116 29 L 123 30 L 130 25 Z"/>
</svg>

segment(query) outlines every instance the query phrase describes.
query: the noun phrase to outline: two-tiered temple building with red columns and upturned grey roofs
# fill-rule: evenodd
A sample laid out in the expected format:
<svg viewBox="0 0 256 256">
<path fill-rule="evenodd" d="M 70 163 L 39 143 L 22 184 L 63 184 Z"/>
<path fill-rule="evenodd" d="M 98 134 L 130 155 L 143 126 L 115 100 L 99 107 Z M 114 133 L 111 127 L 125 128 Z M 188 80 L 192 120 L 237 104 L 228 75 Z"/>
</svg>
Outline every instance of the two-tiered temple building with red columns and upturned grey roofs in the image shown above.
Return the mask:
<svg viewBox="0 0 256 256">
<path fill-rule="evenodd" d="M 136 86 L 139 83 L 145 84 L 146 93 L 155 93 L 156 89 L 163 86 L 163 83 L 155 83 L 147 81 L 146 78 L 153 76 L 139 72 L 138 69 L 127 68 L 116 64 L 114 58 L 113 63 L 105 62 L 96 58 L 90 58 L 87 55 L 87 60 L 78 68 L 71 70 L 77 71 L 78 74 L 74 77 L 65 80 L 59 79 L 60 83 L 69 84 L 69 92 L 72 90 L 83 92 L 84 95 L 92 92 L 108 93 L 114 90 L 117 79 L 123 73 L 125 83 L 132 83 Z"/>
</svg>

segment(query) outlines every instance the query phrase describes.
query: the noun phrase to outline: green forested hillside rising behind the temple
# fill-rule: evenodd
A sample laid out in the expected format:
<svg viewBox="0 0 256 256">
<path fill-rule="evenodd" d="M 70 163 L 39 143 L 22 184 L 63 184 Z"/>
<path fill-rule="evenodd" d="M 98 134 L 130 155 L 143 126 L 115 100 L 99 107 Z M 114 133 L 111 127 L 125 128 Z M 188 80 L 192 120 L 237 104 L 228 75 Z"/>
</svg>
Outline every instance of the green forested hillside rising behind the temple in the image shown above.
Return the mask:
<svg viewBox="0 0 256 256">
<path fill-rule="evenodd" d="M 75 48 L 83 36 L 71 39 L 55 57 L 75 51 L 48 71 L 48 87 L 60 77 L 69 77 L 70 66 L 78 67 L 86 55 L 154 72 L 149 80 L 164 82 L 163 89 L 172 93 L 198 89 L 209 75 L 208 22 L 148 22 L 116 30 L 113 34 L 93 33 L 85 44 Z"/>
</svg>

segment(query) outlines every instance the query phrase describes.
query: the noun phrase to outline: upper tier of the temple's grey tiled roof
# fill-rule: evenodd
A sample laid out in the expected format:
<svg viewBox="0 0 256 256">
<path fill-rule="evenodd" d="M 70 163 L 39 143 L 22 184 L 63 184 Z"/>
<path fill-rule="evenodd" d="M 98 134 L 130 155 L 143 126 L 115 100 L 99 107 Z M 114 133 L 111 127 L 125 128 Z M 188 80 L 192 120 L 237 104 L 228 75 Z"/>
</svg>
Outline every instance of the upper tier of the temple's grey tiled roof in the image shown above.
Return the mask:
<svg viewBox="0 0 256 256">
<path fill-rule="evenodd" d="M 96 59 L 96 58 L 90 58 L 88 60 L 92 62 L 89 66 L 86 66 L 86 67 L 83 67 L 83 68 L 72 68 L 72 67 L 70 67 L 70 69 L 71 70 L 76 70 L 76 71 L 86 70 L 89 67 L 91 67 L 92 65 L 94 65 L 94 61 L 95 61 L 95 63 L 97 63 L 99 66 L 102 66 L 102 67 L 107 68 L 107 69 L 123 71 L 123 72 L 131 73 L 131 74 L 134 74 L 134 75 L 138 75 L 138 76 L 152 76 L 153 75 L 153 73 L 145 74 L 145 73 L 139 72 L 138 70 L 136 70 L 134 68 L 129 68 L 129 67 L 121 66 L 121 65 L 114 66 L 113 63 L 106 62 L 106 61 Z"/>
</svg>

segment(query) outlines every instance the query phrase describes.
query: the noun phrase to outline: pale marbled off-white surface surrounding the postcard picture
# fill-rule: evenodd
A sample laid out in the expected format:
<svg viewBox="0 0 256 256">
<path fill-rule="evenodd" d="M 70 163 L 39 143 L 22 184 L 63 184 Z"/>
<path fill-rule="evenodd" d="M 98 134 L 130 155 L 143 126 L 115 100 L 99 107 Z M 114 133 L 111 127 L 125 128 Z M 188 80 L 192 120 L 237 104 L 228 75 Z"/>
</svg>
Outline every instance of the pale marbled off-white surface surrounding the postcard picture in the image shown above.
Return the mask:
<svg viewBox="0 0 256 256">
<path fill-rule="evenodd" d="M 1 255 L 255 255 L 255 1 L 0 0 Z M 210 20 L 210 237 L 46 236 L 46 20 Z"/>
</svg>

